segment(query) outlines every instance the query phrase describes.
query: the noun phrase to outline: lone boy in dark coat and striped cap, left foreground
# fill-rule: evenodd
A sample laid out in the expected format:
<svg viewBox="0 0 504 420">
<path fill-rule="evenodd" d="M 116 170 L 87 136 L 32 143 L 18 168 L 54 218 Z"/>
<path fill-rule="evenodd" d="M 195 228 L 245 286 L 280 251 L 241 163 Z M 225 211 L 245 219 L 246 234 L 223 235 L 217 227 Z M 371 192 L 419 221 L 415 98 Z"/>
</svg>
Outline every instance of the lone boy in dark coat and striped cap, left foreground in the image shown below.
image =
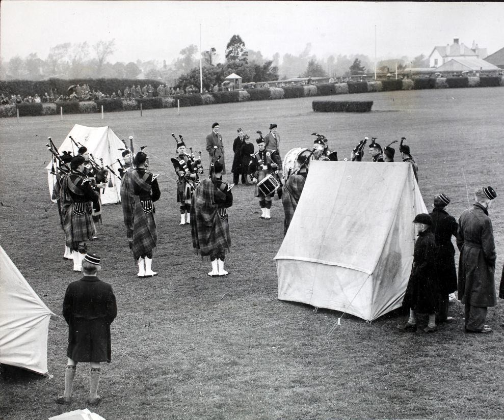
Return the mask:
<svg viewBox="0 0 504 420">
<path fill-rule="evenodd" d="M 117 316 L 112 286 L 97 277 L 100 257 L 86 254 L 82 262 L 84 277 L 68 285 L 63 300 L 63 317 L 68 324 L 68 362 L 65 369 L 65 391 L 58 404 L 72 402 L 72 387 L 77 362 L 89 362 L 90 393 L 87 403 L 98 405 L 100 362 L 111 360 L 110 324 Z"/>
</svg>

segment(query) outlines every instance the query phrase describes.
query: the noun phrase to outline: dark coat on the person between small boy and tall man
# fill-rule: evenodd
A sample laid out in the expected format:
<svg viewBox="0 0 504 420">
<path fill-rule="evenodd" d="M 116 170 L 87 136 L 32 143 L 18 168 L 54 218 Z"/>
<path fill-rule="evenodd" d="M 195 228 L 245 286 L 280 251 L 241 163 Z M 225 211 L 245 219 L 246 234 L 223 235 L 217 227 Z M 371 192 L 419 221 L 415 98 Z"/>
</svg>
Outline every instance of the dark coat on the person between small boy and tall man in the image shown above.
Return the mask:
<svg viewBox="0 0 504 420">
<path fill-rule="evenodd" d="M 457 270 L 455 269 L 455 248 L 452 235 L 457 237 L 457 220 L 444 209 L 435 207 L 432 213 L 431 231 L 436 240 L 436 274 L 438 293 L 448 295 L 457 290 Z"/>
</svg>

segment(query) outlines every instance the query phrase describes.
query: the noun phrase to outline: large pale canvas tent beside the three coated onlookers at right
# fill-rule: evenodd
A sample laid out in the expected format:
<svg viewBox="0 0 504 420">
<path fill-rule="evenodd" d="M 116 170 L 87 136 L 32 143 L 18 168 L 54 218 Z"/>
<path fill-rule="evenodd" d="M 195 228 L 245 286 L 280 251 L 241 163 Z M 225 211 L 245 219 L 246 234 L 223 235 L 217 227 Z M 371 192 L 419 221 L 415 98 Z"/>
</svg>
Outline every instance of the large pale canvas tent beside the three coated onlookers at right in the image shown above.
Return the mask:
<svg viewBox="0 0 504 420">
<path fill-rule="evenodd" d="M 275 257 L 278 298 L 367 321 L 396 309 L 426 212 L 409 163 L 310 162 Z"/>
</svg>

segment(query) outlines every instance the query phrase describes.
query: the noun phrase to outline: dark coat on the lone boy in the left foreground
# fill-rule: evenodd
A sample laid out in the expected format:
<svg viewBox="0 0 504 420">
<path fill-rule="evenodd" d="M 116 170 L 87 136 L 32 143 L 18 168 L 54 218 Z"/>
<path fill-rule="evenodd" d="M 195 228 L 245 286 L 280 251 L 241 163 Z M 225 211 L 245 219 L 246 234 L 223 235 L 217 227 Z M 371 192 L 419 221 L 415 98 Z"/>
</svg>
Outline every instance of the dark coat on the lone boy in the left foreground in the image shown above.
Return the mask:
<svg viewBox="0 0 504 420">
<path fill-rule="evenodd" d="M 110 284 L 86 275 L 70 283 L 63 300 L 67 356 L 74 361 L 110 362 L 110 324 L 116 316 L 116 297 Z"/>
</svg>

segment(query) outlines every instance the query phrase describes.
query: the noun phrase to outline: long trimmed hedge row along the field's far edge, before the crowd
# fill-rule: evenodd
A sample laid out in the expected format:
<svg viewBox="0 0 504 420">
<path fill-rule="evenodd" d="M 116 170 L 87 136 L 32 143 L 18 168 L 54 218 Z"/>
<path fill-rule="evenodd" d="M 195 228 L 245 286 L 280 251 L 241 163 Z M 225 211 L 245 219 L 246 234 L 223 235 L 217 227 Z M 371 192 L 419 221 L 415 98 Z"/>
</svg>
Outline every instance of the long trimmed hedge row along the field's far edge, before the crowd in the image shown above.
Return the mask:
<svg viewBox="0 0 504 420">
<path fill-rule="evenodd" d="M 119 80 L 119 79 L 118 79 Z M 125 80 L 122 80 L 124 83 Z M 0 105 L 1 117 L 15 117 L 16 108 L 19 116 L 54 115 L 63 108 L 64 114 L 85 114 L 101 111 L 114 112 L 120 110 L 171 108 L 177 106 L 199 106 L 213 103 L 230 103 L 243 101 L 259 101 L 268 99 L 301 98 L 309 96 L 340 95 L 348 93 L 367 93 L 394 90 L 445 89 L 466 87 L 504 86 L 504 76 L 482 77 L 437 77 L 418 79 L 391 79 L 377 81 L 358 81 L 348 83 L 321 83 L 320 85 L 287 86 L 284 88 L 258 88 L 229 92 L 209 92 L 202 95 L 177 95 L 173 97 L 154 97 L 137 99 L 102 99 L 96 101 L 69 101 L 50 103 L 21 103 L 17 105 Z M 346 103 L 346 107 L 353 109 Z M 317 105 L 318 106 L 318 105 Z M 326 106 L 326 105 L 321 105 Z M 340 105 L 338 105 L 340 106 Z M 363 112 L 347 110 L 347 112 Z"/>
</svg>

